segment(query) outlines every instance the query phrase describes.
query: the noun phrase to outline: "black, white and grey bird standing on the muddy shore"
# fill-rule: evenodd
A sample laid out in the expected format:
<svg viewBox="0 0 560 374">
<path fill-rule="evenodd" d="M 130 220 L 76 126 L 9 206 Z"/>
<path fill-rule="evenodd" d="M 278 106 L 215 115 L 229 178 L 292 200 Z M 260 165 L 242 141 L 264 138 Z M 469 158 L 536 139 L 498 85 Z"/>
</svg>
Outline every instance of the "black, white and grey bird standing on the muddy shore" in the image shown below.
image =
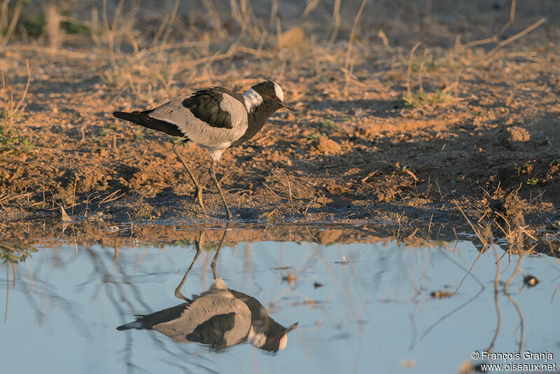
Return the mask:
<svg viewBox="0 0 560 374">
<path fill-rule="evenodd" d="M 216 179 L 215 164 L 226 149 L 253 138 L 265 125 L 267 118 L 282 108 L 295 111 L 293 106 L 284 101 L 280 85 L 268 80 L 253 85 L 244 94 L 215 86 L 197 90 L 190 97 L 176 97 L 154 109 L 116 111 L 113 116 L 183 138 L 173 145 L 173 151 L 193 181 L 195 202 L 198 200 L 205 213 L 202 187 L 177 151 L 177 146 L 192 141 L 206 148 L 212 159 L 209 174 L 230 220 L 232 214 Z"/>
</svg>

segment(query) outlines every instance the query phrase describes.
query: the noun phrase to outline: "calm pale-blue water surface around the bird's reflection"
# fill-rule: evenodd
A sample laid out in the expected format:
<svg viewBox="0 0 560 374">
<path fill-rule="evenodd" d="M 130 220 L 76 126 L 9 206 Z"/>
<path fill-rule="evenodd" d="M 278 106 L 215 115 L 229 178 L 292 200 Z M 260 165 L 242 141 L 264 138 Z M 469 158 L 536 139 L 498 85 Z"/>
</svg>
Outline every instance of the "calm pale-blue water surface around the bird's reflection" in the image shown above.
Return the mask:
<svg viewBox="0 0 560 374">
<path fill-rule="evenodd" d="M 226 240 L 227 243 L 227 240 Z M 130 243 L 129 243 L 130 244 Z M 203 242 L 204 244 L 204 242 Z M 216 276 L 257 299 L 288 333 L 270 354 L 246 342 L 221 352 L 177 343 L 156 331 L 117 331 L 146 314 L 179 305 L 174 290 L 195 245 L 113 248 L 45 242 L 25 263 L 0 268 L 3 373 L 456 373 L 474 351 L 560 354 L 556 333 L 560 267 L 525 256 L 521 270 L 538 277 L 529 288 L 517 256 L 479 256 L 471 242 L 425 247 L 377 243 L 227 244 Z M 206 243 L 215 249 L 218 243 Z M 77 251 L 76 251 L 77 250 Z M 498 256 L 504 254 L 498 248 Z M 183 285 L 186 296 L 213 282 L 214 251 L 200 254 Z M 9 269 L 9 270 L 8 270 Z M 6 276 L 9 279 L 6 279 Z M 433 298 L 433 291 L 455 296 Z M 499 324 L 498 324 L 499 313 Z M 476 363 L 490 360 L 478 359 Z M 507 360 L 498 363 L 545 363 Z"/>
</svg>

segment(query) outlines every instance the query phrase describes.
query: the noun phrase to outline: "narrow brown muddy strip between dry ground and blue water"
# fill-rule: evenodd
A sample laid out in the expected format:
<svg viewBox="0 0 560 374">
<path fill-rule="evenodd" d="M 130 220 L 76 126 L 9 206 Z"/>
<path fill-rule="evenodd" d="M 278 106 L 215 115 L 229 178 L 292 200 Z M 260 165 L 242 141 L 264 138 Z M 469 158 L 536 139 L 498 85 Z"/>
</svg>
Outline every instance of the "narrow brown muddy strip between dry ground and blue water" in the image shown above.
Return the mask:
<svg viewBox="0 0 560 374">
<path fill-rule="evenodd" d="M 458 240 L 470 241 L 480 250 L 492 244 L 504 254 L 560 255 L 560 235 L 547 232 L 533 233 L 525 226 L 500 233 L 478 226 L 453 226 L 447 223 L 416 225 L 401 223 L 370 223 L 367 225 L 286 224 L 263 225 L 257 223 L 221 223 L 193 225 L 181 221 L 130 221 L 107 223 L 94 220 L 62 223 L 53 219 L 35 219 L 20 223 L 3 223 L 0 227 L 0 256 L 8 262 L 19 262 L 43 247 L 91 247 L 99 245 L 118 250 L 123 247 L 188 246 L 200 243 L 204 250 L 212 251 L 222 242 L 234 246 L 244 242 L 313 242 L 317 244 L 350 244 L 396 241 L 405 248 L 442 247 L 456 249 Z"/>
</svg>

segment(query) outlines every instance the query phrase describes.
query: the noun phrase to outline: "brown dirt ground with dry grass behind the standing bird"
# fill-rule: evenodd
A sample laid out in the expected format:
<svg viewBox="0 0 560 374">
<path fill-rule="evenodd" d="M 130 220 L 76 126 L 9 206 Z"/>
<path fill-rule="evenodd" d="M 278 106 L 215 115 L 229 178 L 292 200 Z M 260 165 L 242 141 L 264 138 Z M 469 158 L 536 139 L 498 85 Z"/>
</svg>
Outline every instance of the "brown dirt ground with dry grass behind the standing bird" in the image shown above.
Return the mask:
<svg viewBox="0 0 560 374">
<path fill-rule="evenodd" d="M 60 221 L 61 205 L 73 221 L 222 221 L 206 151 L 181 149 L 204 214 L 176 139 L 111 113 L 272 78 L 297 112 L 224 153 L 217 173 L 235 222 L 410 228 L 468 217 L 496 235 L 521 227 L 558 240 L 557 1 L 517 4 L 510 25 L 510 1 L 369 1 L 361 12 L 349 1 L 338 17 L 337 1 L 75 3 L 85 34 L 16 27 L 0 46 L 13 139 L 0 144 L 5 233 Z M 22 97 L 25 109 L 10 112 Z"/>
</svg>

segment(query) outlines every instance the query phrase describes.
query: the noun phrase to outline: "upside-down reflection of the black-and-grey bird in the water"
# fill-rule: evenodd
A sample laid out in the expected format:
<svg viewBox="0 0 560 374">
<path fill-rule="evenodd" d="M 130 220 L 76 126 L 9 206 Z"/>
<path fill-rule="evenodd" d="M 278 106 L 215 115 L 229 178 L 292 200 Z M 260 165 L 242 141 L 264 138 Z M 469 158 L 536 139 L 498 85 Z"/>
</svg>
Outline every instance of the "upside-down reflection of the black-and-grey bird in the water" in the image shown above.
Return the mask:
<svg viewBox="0 0 560 374">
<path fill-rule="evenodd" d="M 223 279 L 216 277 L 216 261 L 227 233 L 226 227 L 211 263 L 214 284 L 208 291 L 193 295 L 192 298 L 186 298 L 181 293 L 190 270 L 202 252 L 202 230 L 198 240 L 195 240 L 195 258 L 175 289 L 175 296 L 186 303 L 139 316 L 136 321 L 118 326 L 117 329 L 156 330 L 176 342 L 198 342 L 216 351 L 241 342 L 249 342 L 267 352 L 286 348 L 288 333 L 296 328 L 297 322 L 288 327 L 282 326 L 269 317 L 258 300 L 228 289 Z"/>
</svg>

